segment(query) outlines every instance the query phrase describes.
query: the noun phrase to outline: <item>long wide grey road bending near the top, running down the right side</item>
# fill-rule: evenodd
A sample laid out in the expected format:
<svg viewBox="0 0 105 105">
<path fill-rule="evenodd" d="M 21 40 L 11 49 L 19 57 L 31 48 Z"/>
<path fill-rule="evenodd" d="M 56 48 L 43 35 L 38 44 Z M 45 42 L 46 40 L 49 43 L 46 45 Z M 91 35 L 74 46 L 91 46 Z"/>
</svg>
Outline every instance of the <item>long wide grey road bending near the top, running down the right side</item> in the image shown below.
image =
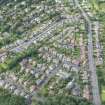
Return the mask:
<svg viewBox="0 0 105 105">
<path fill-rule="evenodd" d="M 87 32 L 88 32 L 88 60 L 89 60 L 89 70 L 91 72 L 90 81 L 91 81 L 91 87 L 92 87 L 92 98 L 93 98 L 92 100 L 93 100 L 94 105 L 101 105 L 101 99 L 100 99 L 100 93 L 99 93 L 99 87 L 98 87 L 98 79 L 97 79 L 97 74 L 96 74 L 96 66 L 95 66 L 95 62 L 93 58 L 93 39 L 92 39 L 91 21 L 88 18 L 85 11 L 79 5 L 78 0 L 74 0 L 74 1 L 88 24 L 88 29 L 87 29 Z"/>
</svg>

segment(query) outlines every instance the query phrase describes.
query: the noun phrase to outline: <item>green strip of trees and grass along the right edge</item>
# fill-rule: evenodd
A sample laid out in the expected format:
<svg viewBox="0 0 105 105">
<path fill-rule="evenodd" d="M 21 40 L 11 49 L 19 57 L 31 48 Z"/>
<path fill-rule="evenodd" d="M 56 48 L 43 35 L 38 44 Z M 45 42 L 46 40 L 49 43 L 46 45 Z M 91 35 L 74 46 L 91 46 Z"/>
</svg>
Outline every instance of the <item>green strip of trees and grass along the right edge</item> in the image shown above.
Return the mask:
<svg viewBox="0 0 105 105">
<path fill-rule="evenodd" d="M 100 4 L 99 4 L 100 6 Z M 103 27 L 101 30 L 101 35 L 100 35 L 100 42 L 103 45 L 103 65 L 97 67 L 97 74 L 98 74 L 98 83 L 100 87 L 100 93 L 101 93 L 101 98 L 102 98 L 102 105 L 105 105 L 105 12 L 103 12 L 101 9 L 99 12 L 97 12 L 97 17 L 102 24 Z"/>
</svg>

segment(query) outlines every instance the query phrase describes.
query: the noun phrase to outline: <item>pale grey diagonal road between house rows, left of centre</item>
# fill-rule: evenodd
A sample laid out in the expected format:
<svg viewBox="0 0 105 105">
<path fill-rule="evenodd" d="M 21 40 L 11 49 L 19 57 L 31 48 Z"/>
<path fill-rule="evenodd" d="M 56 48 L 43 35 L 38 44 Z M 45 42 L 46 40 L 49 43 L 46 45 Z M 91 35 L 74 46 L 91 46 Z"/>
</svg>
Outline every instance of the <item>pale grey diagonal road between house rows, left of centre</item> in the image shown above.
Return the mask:
<svg viewBox="0 0 105 105">
<path fill-rule="evenodd" d="M 62 20 L 63 21 L 63 20 Z M 27 48 L 29 45 L 31 45 L 34 41 L 38 41 L 42 36 L 43 37 L 48 37 L 50 35 L 51 30 L 53 30 L 57 25 L 59 26 L 61 24 L 61 21 L 59 22 L 53 22 L 52 24 L 48 25 L 43 31 L 34 34 L 33 38 L 29 39 L 28 41 L 24 41 L 23 43 L 20 43 L 18 46 L 14 46 L 12 48 L 8 48 L 8 51 L 16 51 L 16 52 L 21 52 L 25 48 Z M 6 52 L 0 54 L 0 58 L 5 56 Z M 1 59 L 0 59 L 1 60 Z"/>
</svg>

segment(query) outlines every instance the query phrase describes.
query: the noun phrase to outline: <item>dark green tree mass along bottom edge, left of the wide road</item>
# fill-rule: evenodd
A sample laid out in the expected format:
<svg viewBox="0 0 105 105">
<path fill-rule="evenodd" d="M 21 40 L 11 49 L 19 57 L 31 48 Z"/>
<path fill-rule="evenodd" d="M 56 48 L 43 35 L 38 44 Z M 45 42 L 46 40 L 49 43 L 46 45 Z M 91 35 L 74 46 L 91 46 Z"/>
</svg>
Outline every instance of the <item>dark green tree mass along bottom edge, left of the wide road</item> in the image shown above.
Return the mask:
<svg viewBox="0 0 105 105">
<path fill-rule="evenodd" d="M 90 102 L 83 98 L 78 98 L 76 96 L 48 96 L 43 101 L 37 102 L 37 104 L 32 103 L 32 105 L 92 105 Z"/>
</svg>

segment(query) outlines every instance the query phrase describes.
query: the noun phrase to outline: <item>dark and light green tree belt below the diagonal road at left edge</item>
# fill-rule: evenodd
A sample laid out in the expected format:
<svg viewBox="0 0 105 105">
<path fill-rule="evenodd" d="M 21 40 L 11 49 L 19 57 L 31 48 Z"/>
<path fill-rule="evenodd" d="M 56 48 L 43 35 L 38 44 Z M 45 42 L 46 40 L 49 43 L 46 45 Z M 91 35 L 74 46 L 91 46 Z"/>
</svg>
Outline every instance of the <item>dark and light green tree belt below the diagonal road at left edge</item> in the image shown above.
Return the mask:
<svg viewBox="0 0 105 105">
<path fill-rule="evenodd" d="M 37 57 L 37 55 L 37 49 L 35 48 L 35 46 L 32 46 L 23 52 L 17 53 L 14 57 L 9 57 L 4 63 L 0 64 L 0 70 L 12 70 L 12 68 L 16 67 L 18 63 L 22 61 L 22 59 L 31 56 Z"/>
</svg>

